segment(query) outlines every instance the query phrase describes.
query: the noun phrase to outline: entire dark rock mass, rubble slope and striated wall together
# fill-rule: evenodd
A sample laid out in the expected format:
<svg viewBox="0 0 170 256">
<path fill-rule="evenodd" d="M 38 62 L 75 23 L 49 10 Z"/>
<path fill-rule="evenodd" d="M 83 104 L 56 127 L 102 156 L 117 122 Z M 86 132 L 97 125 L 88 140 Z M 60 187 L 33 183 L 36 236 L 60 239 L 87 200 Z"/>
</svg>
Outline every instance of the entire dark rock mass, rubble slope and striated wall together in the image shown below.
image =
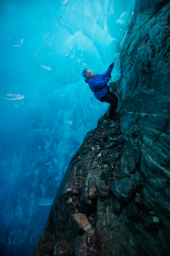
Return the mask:
<svg viewBox="0 0 170 256">
<path fill-rule="evenodd" d="M 170 3 L 143 0 L 120 55 L 121 119 L 106 112 L 84 138 L 32 256 L 170 255 L 169 64 Z"/>
</svg>

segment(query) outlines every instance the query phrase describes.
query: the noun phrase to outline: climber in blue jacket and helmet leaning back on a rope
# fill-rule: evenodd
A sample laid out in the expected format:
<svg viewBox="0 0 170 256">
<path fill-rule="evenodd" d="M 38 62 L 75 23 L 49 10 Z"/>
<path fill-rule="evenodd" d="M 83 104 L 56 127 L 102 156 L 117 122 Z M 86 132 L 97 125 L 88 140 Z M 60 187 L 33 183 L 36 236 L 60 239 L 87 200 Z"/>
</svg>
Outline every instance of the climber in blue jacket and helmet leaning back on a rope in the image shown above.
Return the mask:
<svg viewBox="0 0 170 256">
<path fill-rule="evenodd" d="M 85 82 L 88 83 L 91 91 L 94 93 L 96 99 L 101 102 L 107 102 L 110 104 L 109 119 L 114 121 L 119 118 L 118 113 L 116 113 L 116 108 L 118 105 L 118 97 L 110 91 L 107 83 L 111 78 L 110 71 L 114 67 L 112 63 L 104 74 L 92 74 L 91 70 L 88 68 L 83 69 L 82 75 L 84 76 Z"/>
</svg>

